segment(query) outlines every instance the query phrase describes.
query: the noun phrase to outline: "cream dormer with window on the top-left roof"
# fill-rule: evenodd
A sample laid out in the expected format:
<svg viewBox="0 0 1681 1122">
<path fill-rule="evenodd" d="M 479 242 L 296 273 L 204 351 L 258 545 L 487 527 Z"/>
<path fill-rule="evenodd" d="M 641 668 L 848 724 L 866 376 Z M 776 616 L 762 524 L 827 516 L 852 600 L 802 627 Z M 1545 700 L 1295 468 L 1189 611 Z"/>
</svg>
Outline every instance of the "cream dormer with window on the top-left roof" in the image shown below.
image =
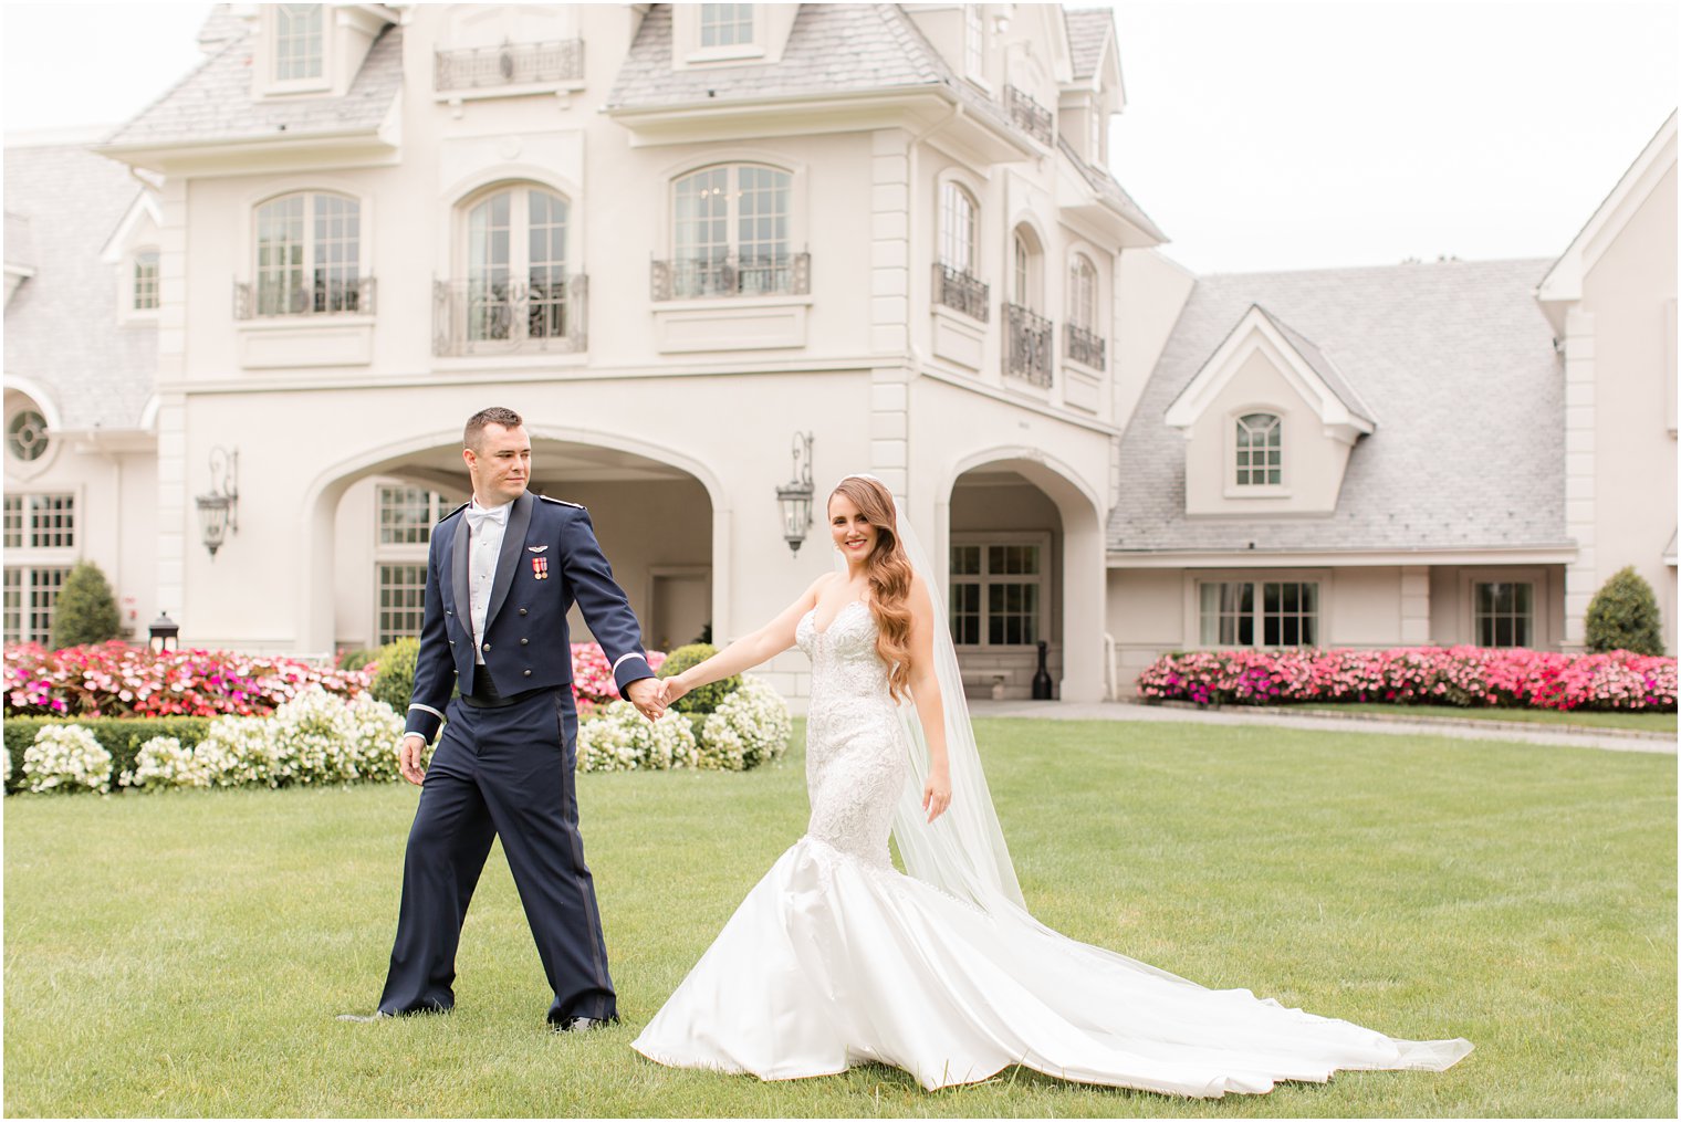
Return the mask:
<svg viewBox="0 0 1681 1122">
<path fill-rule="evenodd" d="M 383 3 L 245 3 L 234 13 L 254 34 L 256 99 L 343 97 L 373 40 L 398 24 Z"/>
</svg>

